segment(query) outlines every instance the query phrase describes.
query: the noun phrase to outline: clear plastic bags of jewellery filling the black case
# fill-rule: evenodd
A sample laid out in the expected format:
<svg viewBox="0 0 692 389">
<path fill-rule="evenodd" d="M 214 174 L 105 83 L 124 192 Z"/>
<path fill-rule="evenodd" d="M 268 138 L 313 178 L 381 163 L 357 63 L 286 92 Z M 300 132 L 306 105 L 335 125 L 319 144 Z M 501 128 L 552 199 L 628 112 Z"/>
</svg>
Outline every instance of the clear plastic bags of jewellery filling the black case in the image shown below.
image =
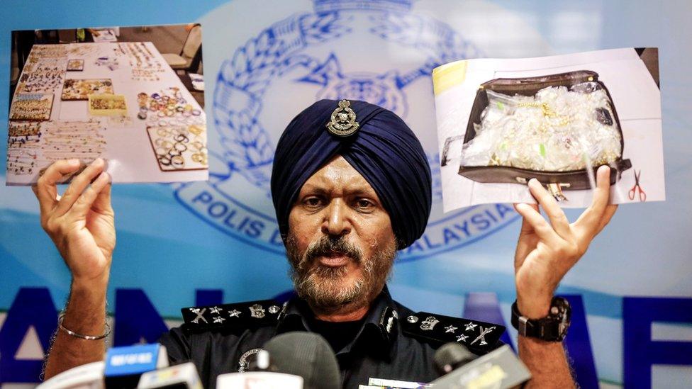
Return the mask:
<svg viewBox="0 0 692 389">
<path fill-rule="evenodd" d="M 615 162 L 622 142 L 610 98 L 596 82 L 548 86 L 535 96 L 488 90 L 462 166 L 572 171 Z"/>
</svg>

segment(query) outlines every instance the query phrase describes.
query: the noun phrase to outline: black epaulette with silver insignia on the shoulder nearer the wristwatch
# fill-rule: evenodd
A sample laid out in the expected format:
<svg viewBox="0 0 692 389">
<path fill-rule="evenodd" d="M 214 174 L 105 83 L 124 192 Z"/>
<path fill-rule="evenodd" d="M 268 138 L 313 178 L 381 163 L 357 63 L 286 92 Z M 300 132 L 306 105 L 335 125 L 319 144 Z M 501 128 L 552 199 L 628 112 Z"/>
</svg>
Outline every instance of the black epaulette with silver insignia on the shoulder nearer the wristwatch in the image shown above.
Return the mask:
<svg viewBox="0 0 692 389">
<path fill-rule="evenodd" d="M 402 317 L 401 329 L 410 337 L 434 344 L 457 342 L 476 354 L 485 354 L 495 349 L 505 332 L 502 325 L 428 312 Z"/>
</svg>

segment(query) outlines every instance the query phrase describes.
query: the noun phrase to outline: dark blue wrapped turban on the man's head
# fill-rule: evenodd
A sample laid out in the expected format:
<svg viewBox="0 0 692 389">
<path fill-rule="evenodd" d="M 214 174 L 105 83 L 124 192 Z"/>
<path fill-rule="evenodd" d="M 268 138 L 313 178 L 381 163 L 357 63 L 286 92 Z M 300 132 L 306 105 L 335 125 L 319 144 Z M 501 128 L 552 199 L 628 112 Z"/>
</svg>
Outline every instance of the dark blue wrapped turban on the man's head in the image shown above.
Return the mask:
<svg viewBox="0 0 692 389">
<path fill-rule="evenodd" d="M 286 239 L 289 213 L 306 181 L 341 155 L 374 188 L 389 213 L 398 249 L 423 235 L 430 216 L 430 166 L 420 141 L 394 112 L 350 101 L 359 128 L 337 136 L 327 128 L 339 101 L 320 100 L 291 120 L 281 134 L 272 169 L 272 200 Z"/>
</svg>

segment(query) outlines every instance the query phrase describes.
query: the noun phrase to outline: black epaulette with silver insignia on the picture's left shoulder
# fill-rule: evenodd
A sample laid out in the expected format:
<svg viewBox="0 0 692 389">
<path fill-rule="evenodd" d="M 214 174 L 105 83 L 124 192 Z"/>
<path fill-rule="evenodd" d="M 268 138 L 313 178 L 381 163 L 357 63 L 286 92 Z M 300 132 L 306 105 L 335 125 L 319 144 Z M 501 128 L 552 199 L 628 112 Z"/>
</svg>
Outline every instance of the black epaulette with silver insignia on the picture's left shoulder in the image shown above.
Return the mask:
<svg viewBox="0 0 692 389">
<path fill-rule="evenodd" d="M 274 300 L 190 307 L 180 310 L 189 332 L 211 329 L 246 329 L 277 325 L 281 307 Z"/>
</svg>

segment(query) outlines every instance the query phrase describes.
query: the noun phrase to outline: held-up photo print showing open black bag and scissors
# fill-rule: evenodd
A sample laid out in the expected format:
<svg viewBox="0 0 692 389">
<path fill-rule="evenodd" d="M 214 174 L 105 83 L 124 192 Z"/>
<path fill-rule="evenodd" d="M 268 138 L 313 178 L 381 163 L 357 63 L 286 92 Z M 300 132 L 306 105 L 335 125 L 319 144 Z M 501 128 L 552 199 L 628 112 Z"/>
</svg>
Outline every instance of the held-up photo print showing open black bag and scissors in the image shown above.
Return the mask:
<svg viewBox="0 0 692 389">
<path fill-rule="evenodd" d="M 657 181 L 656 200 L 664 200 L 657 51 L 646 50 L 468 60 L 435 69 L 445 210 L 535 202 L 530 179 L 562 206 L 586 206 L 601 165 L 610 167 L 614 203 L 632 201 L 624 190 L 639 181 L 632 164 L 659 172 L 647 179 Z"/>
</svg>

